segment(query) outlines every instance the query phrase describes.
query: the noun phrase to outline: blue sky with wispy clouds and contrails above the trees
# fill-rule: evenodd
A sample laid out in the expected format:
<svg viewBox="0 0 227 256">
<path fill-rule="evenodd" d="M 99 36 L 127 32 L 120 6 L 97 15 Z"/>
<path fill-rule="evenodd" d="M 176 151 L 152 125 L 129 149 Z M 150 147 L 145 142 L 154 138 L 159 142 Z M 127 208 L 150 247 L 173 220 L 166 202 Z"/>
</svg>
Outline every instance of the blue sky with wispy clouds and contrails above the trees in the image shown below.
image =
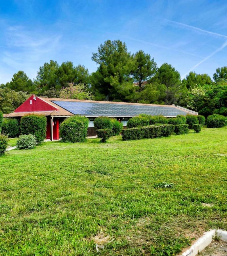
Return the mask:
<svg viewBox="0 0 227 256">
<path fill-rule="evenodd" d="M 227 1 L 0 0 L 0 83 L 23 70 L 33 79 L 50 59 L 96 70 L 93 52 L 120 39 L 158 66 L 213 76 L 227 65 Z"/>
</svg>

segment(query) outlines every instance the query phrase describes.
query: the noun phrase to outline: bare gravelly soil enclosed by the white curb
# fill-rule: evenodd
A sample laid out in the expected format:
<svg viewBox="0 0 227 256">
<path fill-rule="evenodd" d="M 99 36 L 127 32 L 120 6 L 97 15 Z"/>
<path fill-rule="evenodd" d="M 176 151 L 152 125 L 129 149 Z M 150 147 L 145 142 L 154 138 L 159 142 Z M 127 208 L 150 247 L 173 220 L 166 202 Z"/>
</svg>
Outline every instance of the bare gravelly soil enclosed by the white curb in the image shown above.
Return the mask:
<svg viewBox="0 0 227 256">
<path fill-rule="evenodd" d="M 219 240 L 214 240 L 207 246 L 203 251 L 201 251 L 199 256 L 224 256 L 227 255 L 227 243 Z"/>
</svg>

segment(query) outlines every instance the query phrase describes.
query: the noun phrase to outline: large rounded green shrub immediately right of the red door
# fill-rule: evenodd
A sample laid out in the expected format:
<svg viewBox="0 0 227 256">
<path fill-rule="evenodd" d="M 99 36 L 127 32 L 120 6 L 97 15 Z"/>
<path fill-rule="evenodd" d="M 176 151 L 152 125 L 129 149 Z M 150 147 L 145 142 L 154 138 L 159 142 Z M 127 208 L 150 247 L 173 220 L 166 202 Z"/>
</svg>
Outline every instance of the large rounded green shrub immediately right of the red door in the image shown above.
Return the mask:
<svg viewBox="0 0 227 256">
<path fill-rule="evenodd" d="M 64 142 L 83 142 L 87 135 L 89 119 L 74 115 L 60 124 L 60 136 Z"/>
</svg>

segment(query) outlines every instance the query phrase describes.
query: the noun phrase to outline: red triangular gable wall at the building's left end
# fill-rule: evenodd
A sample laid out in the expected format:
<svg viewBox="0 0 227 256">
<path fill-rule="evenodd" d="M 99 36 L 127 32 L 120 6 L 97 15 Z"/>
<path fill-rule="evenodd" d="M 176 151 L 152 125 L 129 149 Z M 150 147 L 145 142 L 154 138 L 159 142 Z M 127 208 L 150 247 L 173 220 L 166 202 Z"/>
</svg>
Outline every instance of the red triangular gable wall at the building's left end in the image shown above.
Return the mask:
<svg viewBox="0 0 227 256">
<path fill-rule="evenodd" d="M 36 100 L 34 99 L 36 98 Z M 31 100 L 31 104 L 30 104 Z M 41 100 L 35 95 L 32 95 L 28 100 L 22 103 L 14 112 L 35 112 L 35 111 L 49 111 L 49 110 L 57 110 L 54 106 L 50 105 L 49 103 Z"/>
</svg>

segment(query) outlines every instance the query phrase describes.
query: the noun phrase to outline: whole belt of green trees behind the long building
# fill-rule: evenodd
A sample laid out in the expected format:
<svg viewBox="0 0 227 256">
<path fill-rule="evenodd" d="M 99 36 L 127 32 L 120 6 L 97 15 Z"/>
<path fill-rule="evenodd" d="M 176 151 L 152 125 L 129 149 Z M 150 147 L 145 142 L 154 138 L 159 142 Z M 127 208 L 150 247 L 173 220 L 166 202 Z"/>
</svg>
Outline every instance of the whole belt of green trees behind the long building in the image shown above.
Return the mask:
<svg viewBox="0 0 227 256">
<path fill-rule="evenodd" d="M 213 78 L 190 72 L 185 79 L 168 63 L 157 67 L 142 50 L 130 53 L 120 40 L 107 40 L 93 53 L 97 63 L 89 73 L 71 61 L 44 63 L 33 81 L 18 71 L 0 84 L 0 110 L 10 113 L 31 94 L 50 98 L 107 100 L 149 104 L 178 104 L 201 115 L 227 116 L 227 66 L 218 67 Z"/>
</svg>

